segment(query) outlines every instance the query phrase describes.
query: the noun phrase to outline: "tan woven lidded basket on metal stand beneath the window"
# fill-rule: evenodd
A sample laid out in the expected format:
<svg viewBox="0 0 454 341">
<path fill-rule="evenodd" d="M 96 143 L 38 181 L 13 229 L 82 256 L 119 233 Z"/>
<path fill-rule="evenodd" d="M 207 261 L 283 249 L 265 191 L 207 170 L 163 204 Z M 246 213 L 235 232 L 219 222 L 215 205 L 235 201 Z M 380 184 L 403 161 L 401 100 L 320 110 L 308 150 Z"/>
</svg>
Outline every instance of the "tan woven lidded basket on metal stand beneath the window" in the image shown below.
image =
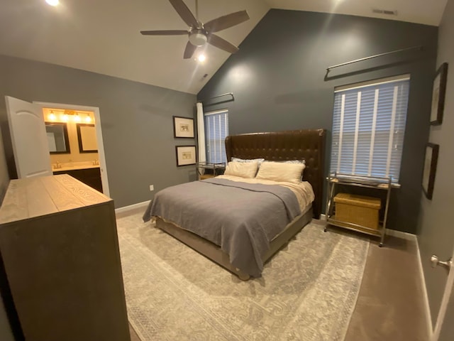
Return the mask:
<svg viewBox="0 0 454 341">
<path fill-rule="evenodd" d="M 336 220 L 378 229 L 378 212 L 382 202 L 377 197 L 338 193 L 334 202 Z"/>
</svg>

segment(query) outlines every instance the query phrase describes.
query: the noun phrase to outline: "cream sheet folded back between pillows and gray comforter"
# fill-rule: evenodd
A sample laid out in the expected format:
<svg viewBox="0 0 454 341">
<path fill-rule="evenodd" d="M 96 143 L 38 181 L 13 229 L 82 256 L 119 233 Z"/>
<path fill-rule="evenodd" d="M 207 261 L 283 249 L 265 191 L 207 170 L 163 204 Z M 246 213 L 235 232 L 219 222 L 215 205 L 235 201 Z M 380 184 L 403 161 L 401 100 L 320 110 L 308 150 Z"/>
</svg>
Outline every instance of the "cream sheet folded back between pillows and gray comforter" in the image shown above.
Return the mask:
<svg viewBox="0 0 454 341">
<path fill-rule="evenodd" d="M 312 186 L 307 181 L 301 181 L 301 183 L 288 183 L 273 180 L 263 180 L 257 178 L 240 178 L 239 176 L 233 175 L 218 175 L 216 178 L 226 179 L 231 181 L 238 181 L 243 183 L 261 183 L 263 185 L 279 185 L 289 188 L 297 196 L 299 207 L 303 212 L 307 206 L 311 205 L 314 201 L 315 195 Z"/>
</svg>

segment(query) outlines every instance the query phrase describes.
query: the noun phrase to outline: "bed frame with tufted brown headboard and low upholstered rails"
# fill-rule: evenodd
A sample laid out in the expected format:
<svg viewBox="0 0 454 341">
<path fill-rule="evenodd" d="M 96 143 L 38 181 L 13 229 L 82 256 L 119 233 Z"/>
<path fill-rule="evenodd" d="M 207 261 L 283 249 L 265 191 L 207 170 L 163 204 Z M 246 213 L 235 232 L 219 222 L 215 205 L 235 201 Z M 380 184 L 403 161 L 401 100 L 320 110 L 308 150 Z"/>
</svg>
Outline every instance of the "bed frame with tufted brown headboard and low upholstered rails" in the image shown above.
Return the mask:
<svg viewBox="0 0 454 341">
<path fill-rule="evenodd" d="M 319 218 L 323 195 L 323 163 L 325 161 L 324 129 L 305 129 L 277 131 L 227 136 L 227 160 L 236 158 L 265 158 L 268 161 L 301 160 L 306 161 L 303 180 L 309 181 L 314 188 L 315 200 L 310 210 L 296 217 L 277 237 L 270 242 L 270 249 L 262 257 L 263 263 L 294 237 L 312 217 Z M 192 249 L 215 261 L 224 268 L 246 281 L 250 278 L 230 263 L 228 254 L 206 239 L 170 222 L 157 218 L 156 227 L 162 229 Z"/>
</svg>

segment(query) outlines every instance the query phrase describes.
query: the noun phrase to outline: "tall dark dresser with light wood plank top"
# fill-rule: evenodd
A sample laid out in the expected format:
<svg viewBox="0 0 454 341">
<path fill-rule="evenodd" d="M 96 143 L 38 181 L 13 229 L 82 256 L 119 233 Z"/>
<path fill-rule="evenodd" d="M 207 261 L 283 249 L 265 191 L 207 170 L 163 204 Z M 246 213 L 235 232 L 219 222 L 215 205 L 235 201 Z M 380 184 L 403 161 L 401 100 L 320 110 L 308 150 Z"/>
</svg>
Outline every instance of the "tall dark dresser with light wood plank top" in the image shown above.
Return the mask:
<svg viewBox="0 0 454 341">
<path fill-rule="evenodd" d="M 109 197 L 70 175 L 11 180 L 0 252 L 26 340 L 130 340 Z"/>
</svg>

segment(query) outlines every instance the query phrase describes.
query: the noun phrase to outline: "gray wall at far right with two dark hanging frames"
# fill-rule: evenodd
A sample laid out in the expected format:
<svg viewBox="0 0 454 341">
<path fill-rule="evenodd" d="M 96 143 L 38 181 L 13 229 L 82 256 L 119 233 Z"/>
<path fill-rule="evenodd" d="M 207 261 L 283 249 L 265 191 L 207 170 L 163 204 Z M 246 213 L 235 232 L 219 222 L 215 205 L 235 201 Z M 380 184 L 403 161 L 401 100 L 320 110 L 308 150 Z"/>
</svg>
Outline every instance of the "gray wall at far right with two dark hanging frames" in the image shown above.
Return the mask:
<svg viewBox="0 0 454 341">
<path fill-rule="evenodd" d="M 451 222 L 451 210 L 454 207 L 454 0 L 448 1 L 441 21 L 438 37 L 437 67 L 442 63 L 448 65 L 448 83 L 446 87 L 445 109 L 443 124 L 431 126 L 428 141 L 440 145 L 438 165 L 433 188 L 432 200 L 421 197 L 421 219 L 419 222 L 419 249 L 429 305 L 431 307 L 432 323 L 435 326 L 441 298 L 445 288 L 446 272 L 443 269 L 432 269 L 428 261 L 432 254 L 437 254 L 442 261 L 453 256 L 454 228 Z M 436 72 L 436 68 L 433 69 Z M 453 295 L 454 293 L 451 293 Z M 452 321 L 445 320 L 450 325 L 450 337 L 440 340 L 452 340 Z"/>
</svg>

